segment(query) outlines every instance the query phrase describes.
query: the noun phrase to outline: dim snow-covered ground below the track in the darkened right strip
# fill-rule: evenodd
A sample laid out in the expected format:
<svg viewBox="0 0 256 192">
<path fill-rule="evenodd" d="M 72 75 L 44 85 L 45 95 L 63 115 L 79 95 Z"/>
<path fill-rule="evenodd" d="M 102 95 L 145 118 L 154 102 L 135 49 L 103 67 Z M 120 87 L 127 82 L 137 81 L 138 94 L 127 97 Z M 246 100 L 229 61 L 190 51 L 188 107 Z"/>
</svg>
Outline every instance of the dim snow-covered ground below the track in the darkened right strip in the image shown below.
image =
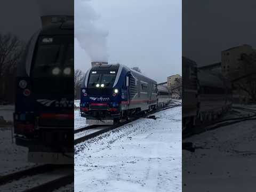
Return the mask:
<svg viewBox="0 0 256 192">
<path fill-rule="evenodd" d="M 184 141 L 193 142 L 196 151 L 182 151 L 183 191 L 252 191 L 249 189 L 255 188 L 255 120 L 220 127 Z"/>
</svg>

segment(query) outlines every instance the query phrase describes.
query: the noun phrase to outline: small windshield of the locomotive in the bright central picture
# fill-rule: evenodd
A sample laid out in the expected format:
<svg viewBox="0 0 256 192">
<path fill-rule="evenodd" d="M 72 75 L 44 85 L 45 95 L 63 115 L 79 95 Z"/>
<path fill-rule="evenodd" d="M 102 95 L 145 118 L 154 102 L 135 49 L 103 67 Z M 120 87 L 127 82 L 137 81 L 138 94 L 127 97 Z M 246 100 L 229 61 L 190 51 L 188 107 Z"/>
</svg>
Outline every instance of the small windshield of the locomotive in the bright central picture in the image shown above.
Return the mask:
<svg viewBox="0 0 256 192">
<path fill-rule="evenodd" d="M 91 70 L 88 87 L 112 87 L 116 79 L 116 71 L 110 70 Z"/>
</svg>

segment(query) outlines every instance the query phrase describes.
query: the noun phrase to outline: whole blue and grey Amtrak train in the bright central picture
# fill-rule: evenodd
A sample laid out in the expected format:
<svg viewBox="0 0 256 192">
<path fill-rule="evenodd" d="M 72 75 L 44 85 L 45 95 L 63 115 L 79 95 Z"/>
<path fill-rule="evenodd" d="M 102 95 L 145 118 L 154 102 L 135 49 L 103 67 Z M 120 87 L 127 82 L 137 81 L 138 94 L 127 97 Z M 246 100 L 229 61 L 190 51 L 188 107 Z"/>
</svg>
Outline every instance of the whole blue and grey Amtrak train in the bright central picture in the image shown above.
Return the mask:
<svg viewBox="0 0 256 192">
<path fill-rule="evenodd" d="M 157 82 L 138 71 L 121 64 L 99 62 L 84 76 L 80 113 L 86 117 L 86 124 L 113 125 L 167 105 L 170 97 L 167 89 L 158 92 Z"/>
</svg>

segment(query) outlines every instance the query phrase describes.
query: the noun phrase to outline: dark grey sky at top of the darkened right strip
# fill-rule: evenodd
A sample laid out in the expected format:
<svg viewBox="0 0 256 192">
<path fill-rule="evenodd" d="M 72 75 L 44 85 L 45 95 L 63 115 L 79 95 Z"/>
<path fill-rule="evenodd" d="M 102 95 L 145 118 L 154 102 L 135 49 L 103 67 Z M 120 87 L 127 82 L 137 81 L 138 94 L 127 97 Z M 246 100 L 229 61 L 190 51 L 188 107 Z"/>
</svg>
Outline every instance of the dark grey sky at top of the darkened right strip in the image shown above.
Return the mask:
<svg viewBox="0 0 256 192">
<path fill-rule="evenodd" d="M 198 66 L 220 62 L 230 47 L 256 48 L 256 1 L 183 0 L 182 6 L 182 55 Z"/>
</svg>

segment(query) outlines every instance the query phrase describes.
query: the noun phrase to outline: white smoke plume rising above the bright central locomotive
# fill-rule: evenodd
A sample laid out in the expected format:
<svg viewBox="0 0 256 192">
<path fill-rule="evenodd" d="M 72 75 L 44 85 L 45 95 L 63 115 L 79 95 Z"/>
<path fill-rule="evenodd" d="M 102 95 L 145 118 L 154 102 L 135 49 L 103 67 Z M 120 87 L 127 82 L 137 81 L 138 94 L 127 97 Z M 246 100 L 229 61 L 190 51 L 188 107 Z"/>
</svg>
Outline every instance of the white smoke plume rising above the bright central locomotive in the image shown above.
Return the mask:
<svg viewBox="0 0 256 192">
<path fill-rule="evenodd" d="M 75 38 L 91 58 L 91 61 L 108 61 L 107 31 L 95 26 L 99 15 L 88 3 L 75 0 Z"/>
</svg>

